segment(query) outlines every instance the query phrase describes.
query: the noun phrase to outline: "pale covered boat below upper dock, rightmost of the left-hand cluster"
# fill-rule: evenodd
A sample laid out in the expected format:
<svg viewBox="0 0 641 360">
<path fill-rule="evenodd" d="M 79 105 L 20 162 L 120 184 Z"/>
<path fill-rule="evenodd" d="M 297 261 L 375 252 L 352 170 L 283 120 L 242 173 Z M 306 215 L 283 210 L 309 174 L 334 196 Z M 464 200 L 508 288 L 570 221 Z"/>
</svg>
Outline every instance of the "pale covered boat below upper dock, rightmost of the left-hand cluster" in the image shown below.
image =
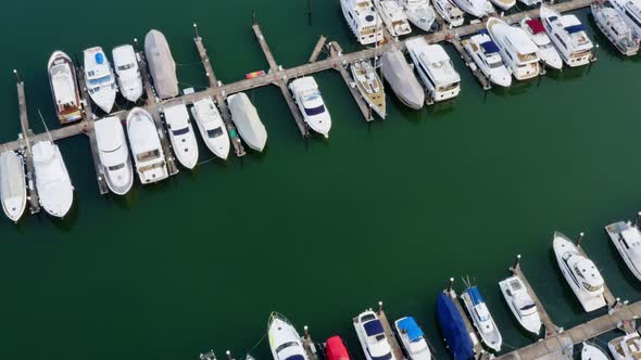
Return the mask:
<svg viewBox="0 0 641 360">
<path fill-rule="evenodd" d="M 267 130 L 254 105 L 246 93 L 239 92 L 227 98 L 231 120 L 236 124 L 238 133 L 249 147 L 262 152 L 267 143 Z"/>
</svg>

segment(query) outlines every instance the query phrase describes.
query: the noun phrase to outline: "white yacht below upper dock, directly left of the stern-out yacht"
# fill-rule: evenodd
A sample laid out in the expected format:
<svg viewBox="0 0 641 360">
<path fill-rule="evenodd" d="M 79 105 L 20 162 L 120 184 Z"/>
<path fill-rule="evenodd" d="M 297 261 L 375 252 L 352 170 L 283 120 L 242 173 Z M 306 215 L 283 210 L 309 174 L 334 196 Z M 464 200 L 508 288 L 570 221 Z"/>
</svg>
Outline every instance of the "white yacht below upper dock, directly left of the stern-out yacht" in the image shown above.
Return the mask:
<svg viewBox="0 0 641 360">
<path fill-rule="evenodd" d="M 114 194 L 125 195 L 134 184 L 134 167 L 121 119 L 114 116 L 96 120 L 93 128 L 106 184 Z"/>
</svg>

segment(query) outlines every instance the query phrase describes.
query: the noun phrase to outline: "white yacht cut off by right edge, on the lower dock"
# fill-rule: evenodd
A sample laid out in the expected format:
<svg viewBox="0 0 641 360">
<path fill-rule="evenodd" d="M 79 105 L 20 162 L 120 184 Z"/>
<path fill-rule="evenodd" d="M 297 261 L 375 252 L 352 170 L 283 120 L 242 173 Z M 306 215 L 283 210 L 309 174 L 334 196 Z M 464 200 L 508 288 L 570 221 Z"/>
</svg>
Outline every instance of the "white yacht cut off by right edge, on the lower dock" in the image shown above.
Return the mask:
<svg viewBox="0 0 641 360">
<path fill-rule="evenodd" d="M 605 227 L 612 243 L 626 261 L 626 265 L 641 281 L 641 231 L 631 222 L 615 222 Z"/>
</svg>

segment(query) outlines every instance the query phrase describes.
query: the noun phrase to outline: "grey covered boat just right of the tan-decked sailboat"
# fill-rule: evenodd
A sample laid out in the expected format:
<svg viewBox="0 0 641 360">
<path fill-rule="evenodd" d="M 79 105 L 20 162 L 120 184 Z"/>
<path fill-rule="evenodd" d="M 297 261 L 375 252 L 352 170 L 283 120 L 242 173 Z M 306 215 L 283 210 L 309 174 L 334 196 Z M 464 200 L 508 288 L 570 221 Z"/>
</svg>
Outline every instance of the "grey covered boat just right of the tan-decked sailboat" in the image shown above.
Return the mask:
<svg viewBox="0 0 641 360">
<path fill-rule="evenodd" d="M 397 48 L 384 52 L 380 57 L 380 68 L 399 100 L 407 107 L 420 110 L 425 104 L 425 90 L 414 75 L 405 55 Z"/>
</svg>

